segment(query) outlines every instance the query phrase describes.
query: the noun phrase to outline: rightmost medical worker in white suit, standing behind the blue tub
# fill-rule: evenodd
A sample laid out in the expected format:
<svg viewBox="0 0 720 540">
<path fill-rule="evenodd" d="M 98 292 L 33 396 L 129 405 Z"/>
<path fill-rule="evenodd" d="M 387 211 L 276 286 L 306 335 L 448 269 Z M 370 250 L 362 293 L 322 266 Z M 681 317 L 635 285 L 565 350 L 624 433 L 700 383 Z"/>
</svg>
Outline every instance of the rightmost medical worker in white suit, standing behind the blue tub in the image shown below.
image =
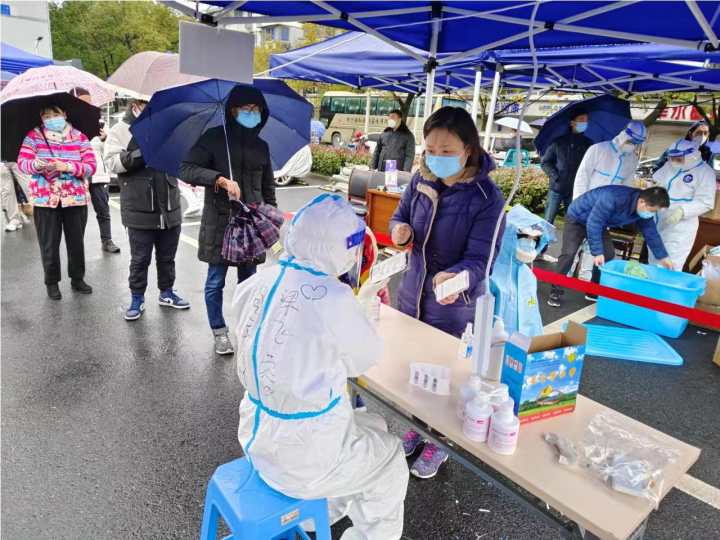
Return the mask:
<svg viewBox="0 0 720 540">
<path fill-rule="evenodd" d="M 655 183 L 670 195 L 670 207 L 658 214 L 657 229 L 673 268 L 682 270 L 695 243 L 698 218 L 715 206 L 715 171 L 693 141 L 680 139 L 667 155 L 665 165 L 653 174 Z M 649 262 L 657 263 L 652 253 Z"/>
</svg>

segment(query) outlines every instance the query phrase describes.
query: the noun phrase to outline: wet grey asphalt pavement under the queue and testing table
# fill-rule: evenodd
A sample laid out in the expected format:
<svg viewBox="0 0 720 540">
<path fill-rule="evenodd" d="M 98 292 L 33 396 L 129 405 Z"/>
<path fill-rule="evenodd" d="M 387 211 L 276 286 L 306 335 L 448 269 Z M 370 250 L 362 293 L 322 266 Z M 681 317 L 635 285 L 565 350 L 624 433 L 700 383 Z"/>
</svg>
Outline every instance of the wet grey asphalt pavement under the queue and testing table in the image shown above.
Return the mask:
<svg viewBox="0 0 720 540">
<path fill-rule="evenodd" d="M 280 192 L 294 210 L 319 193 Z M 32 226 L 2 235 L 2 538 L 196 538 L 207 480 L 242 454 L 236 438 L 242 388 L 232 357 L 212 350 L 203 303 L 205 267 L 189 220 L 177 255 L 176 289 L 189 311 L 155 302 L 123 320 L 129 300 L 128 245 L 119 212 L 119 255 L 102 253 L 94 213 L 86 233 L 87 276 L 95 292 L 45 294 Z M 226 306 L 233 287 L 228 280 Z M 542 295 L 545 294 L 541 287 Z M 582 307 L 568 298 L 545 322 Z M 229 307 L 226 315 L 231 318 Z M 704 332 L 704 331 L 703 331 Z M 702 449 L 690 471 L 720 487 L 720 369 L 710 362 L 717 334 L 690 327 L 670 340 L 685 358 L 667 368 L 592 358 L 582 392 Z M 386 415 L 401 434 L 402 419 Z M 558 533 L 456 463 L 429 481 L 412 479 L 406 539 L 537 539 Z M 343 522 L 336 532 L 345 526 Z M 673 490 L 646 538 L 720 537 L 720 511 Z"/>
</svg>

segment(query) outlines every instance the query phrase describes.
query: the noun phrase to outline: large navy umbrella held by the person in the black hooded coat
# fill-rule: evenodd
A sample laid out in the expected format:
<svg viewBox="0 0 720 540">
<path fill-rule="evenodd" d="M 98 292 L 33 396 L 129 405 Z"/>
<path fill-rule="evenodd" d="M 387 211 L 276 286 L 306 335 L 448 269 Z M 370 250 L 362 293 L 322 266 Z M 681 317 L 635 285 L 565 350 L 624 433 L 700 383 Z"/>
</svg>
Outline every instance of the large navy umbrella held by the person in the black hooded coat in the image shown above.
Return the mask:
<svg viewBox="0 0 720 540">
<path fill-rule="evenodd" d="M 227 98 L 238 83 L 208 79 L 153 94 L 130 128 L 148 166 L 178 176 L 180 164 L 200 136 L 225 121 Z M 246 85 L 247 86 L 247 85 Z M 310 141 L 313 106 L 284 82 L 256 79 L 270 117 L 260 137 L 270 146 L 273 170 L 279 170 Z"/>
</svg>

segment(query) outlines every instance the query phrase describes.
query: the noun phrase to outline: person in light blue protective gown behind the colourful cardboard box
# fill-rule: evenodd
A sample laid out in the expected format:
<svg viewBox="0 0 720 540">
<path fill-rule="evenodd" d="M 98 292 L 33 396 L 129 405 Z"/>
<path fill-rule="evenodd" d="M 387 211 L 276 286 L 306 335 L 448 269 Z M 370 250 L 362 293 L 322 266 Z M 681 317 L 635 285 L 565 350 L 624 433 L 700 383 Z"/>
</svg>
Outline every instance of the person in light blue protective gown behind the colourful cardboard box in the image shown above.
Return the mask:
<svg viewBox="0 0 720 540">
<path fill-rule="evenodd" d="M 513 206 L 507 213 L 490 289 L 495 295 L 495 315 L 502 318 L 508 334 L 534 337 L 543 333 L 537 279 L 529 264 L 555 238 L 555 227 L 524 206 Z"/>
</svg>

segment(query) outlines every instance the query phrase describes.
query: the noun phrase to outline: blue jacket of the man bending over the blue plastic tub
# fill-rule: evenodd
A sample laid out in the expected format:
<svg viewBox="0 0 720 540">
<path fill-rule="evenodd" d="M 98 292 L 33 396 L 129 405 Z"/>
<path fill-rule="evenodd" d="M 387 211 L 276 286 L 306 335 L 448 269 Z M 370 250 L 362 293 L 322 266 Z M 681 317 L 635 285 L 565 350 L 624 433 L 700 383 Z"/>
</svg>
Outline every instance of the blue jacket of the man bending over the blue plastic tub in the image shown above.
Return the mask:
<svg viewBox="0 0 720 540">
<path fill-rule="evenodd" d="M 602 186 L 591 189 L 575 199 L 568 208 L 568 218 L 583 223 L 593 255 L 603 254 L 602 235 L 608 227 L 622 227 L 637 223 L 650 251 L 658 259 L 668 256 L 655 219 L 643 219 L 637 213 L 640 190 L 629 186 Z"/>
</svg>

